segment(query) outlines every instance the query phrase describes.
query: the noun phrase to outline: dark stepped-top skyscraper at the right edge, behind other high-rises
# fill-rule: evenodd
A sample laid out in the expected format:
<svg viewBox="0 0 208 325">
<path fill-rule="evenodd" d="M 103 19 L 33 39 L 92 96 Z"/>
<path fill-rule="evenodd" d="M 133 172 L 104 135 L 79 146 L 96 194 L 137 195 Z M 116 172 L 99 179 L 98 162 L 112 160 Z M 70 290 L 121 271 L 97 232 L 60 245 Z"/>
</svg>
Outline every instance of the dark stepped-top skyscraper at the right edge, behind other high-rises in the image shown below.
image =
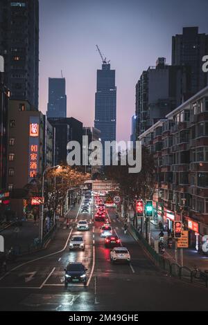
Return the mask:
<svg viewBox="0 0 208 325">
<path fill-rule="evenodd" d="M 207 73 L 202 71 L 202 57 L 207 53 L 208 35 L 199 34 L 198 27 L 185 27 L 182 35 L 172 38 L 172 65 L 191 66 L 189 97 L 207 86 Z"/>
</svg>

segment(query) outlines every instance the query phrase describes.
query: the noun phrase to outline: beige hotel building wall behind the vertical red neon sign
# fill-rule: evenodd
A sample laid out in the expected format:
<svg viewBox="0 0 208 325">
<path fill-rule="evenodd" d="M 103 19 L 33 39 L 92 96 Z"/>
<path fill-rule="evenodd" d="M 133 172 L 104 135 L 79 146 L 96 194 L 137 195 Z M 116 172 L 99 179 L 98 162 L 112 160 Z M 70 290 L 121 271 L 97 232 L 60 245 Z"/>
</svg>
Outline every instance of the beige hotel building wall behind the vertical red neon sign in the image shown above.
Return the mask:
<svg viewBox="0 0 208 325">
<path fill-rule="evenodd" d="M 30 175 L 30 122 L 35 118 L 39 125 L 37 137 L 37 174 L 42 174 L 44 161 L 44 117 L 40 111 L 33 109 L 27 101 L 10 100 L 8 115 L 8 187 L 21 189 L 33 179 Z M 14 142 L 12 142 L 12 139 Z M 10 154 L 14 160 L 10 161 Z M 36 152 L 35 152 L 36 154 Z M 11 175 L 13 169 L 14 175 Z"/>
</svg>

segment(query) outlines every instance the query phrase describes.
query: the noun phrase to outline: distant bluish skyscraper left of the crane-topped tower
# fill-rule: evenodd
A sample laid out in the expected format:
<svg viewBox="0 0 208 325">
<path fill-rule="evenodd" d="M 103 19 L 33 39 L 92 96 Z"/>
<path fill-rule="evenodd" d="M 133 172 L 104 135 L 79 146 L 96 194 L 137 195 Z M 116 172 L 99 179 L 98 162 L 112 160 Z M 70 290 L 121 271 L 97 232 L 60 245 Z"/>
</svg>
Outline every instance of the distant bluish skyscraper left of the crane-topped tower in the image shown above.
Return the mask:
<svg viewBox="0 0 208 325">
<path fill-rule="evenodd" d="M 67 117 L 67 95 L 65 78 L 49 78 L 49 103 L 47 117 Z"/>
</svg>

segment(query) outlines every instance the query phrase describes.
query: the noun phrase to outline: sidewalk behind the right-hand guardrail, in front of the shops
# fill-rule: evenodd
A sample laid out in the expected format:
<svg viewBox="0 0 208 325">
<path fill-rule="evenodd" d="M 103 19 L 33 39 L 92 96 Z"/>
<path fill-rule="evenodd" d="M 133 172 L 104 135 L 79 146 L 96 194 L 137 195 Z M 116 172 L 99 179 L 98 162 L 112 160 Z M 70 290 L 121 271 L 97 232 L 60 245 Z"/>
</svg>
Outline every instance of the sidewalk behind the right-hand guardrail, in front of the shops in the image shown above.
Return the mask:
<svg viewBox="0 0 208 325">
<path fill-rule="evenodd" d="M 159 240 L 159 226 L 153 225 L 153 223 L 150 223 L 150 232 L 151 232 L 151 245 L 154 248 L 154 242 L 155 240 Z M 167 243 L 167 232 L 164 231 L 164 244 L 165 244 L 165 254 L 164 257 L 167 259 L 170 259 L 171 262 L 175 262 L 175 247 L 173 243 L 172 248 L 168 248 Z M 208 257 L 205 255 L 199 254 L 196 250 L 191 248 L 184 248 L 183 250 L 184 255 L 184 266 L 187 266 L 187 268 L 193 269 L 195 266 L 199 268 L 202 271 L 208 270 Z M 181 265 L 180 262 L 180 249 L 177 250 L 177 263 Z"/>
</svg>

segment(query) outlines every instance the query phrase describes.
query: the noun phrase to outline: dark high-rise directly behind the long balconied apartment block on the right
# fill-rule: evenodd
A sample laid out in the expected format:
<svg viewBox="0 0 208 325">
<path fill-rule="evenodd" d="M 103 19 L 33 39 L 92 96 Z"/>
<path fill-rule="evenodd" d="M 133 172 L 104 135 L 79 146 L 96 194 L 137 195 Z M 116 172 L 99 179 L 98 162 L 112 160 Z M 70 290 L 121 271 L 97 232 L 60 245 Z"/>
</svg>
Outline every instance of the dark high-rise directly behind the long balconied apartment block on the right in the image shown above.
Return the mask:
<svg viewBox="0 0 208 325">
<path fill-rule="evenodd" d="M 169 66 L 159 57 L 156 66 L 143 71 L 136 85 L 136 139 L 187 99 L 190 88 L 189 66 Z"/>
</svg>

